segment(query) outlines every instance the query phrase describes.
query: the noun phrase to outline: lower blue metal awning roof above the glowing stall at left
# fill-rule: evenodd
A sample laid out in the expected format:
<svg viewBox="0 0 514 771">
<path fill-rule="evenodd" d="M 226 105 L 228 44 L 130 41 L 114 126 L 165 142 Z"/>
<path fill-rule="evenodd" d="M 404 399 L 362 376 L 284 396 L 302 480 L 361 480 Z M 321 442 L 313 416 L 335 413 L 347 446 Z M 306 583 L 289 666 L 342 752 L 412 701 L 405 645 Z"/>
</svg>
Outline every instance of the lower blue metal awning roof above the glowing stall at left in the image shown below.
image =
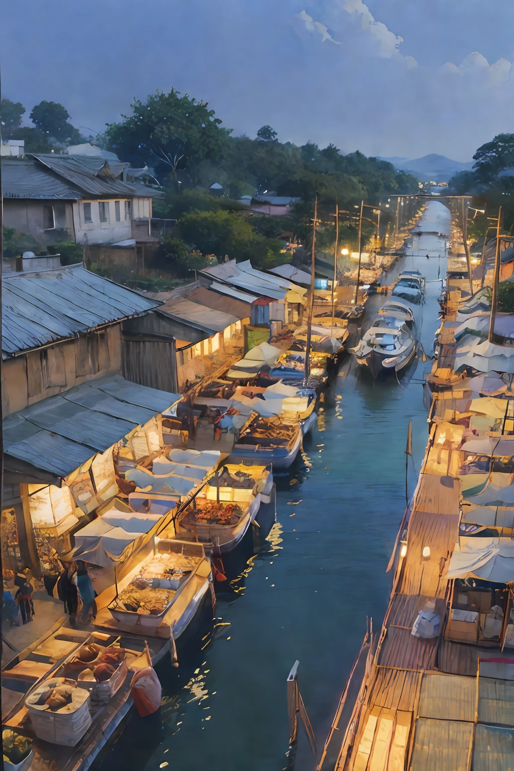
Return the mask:
<svg viewBox="0 0 514 771">
<path fill-rule="evenodd" d="M 5 453 L 67 476 L 181 398 L 120 375 L 90 380 L 5 418 Z"/>
</svg>

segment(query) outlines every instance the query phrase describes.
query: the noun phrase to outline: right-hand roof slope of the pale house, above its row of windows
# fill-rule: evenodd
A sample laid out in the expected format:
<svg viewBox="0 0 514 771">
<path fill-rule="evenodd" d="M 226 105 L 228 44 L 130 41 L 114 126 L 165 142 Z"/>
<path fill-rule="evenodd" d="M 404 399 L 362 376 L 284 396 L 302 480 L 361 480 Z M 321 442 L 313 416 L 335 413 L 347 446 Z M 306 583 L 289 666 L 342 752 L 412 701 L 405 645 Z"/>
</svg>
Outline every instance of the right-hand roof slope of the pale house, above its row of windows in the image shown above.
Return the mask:
<svg viewBox="0 0 514 771">
<path fill-rule="evenodd" d="M 105 158 L 53 153 L 35 154 L 34 157 L 39 163 L 59 174 L 59 177 L 89 195 L 132 197 L 134 194 L 133 187 L 116 180 Z"/>
</svg>

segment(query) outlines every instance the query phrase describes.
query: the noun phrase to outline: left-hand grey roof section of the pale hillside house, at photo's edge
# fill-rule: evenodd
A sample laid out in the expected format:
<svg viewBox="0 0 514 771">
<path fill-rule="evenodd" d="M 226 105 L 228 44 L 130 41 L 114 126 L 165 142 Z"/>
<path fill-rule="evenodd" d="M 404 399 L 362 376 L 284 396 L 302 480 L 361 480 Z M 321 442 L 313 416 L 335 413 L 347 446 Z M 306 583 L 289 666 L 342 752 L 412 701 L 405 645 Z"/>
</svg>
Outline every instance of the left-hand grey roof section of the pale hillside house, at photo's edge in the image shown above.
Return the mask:
<svg viewBox="0 0 514 771">
<path fill-rule="evenodd" d="M 82 197 L 78 190 L 33 160 L 2 158 L 2 190 L 7 199 L 78 200 Z"/>
</svg>

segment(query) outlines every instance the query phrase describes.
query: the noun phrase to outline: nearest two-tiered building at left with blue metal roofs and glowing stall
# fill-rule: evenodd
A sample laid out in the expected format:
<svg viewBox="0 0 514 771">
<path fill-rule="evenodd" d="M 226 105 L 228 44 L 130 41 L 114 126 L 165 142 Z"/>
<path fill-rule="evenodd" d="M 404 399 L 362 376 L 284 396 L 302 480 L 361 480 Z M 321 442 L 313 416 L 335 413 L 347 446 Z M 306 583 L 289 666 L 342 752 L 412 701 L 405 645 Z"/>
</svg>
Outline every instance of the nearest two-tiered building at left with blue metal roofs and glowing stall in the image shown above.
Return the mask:
<svg viewBox="0 0 514 771">
<path fill-rule="evenodd" d="M 81 265 L 5 275 L 2 300 L 2 555 L 7 571 L 41 576 L 113 497 L 113 446 L 152 452 L 155 416 L 180 395 L 146 385 L 153 373 L 123 338 L 123 322 L 160 301 Z M 174 341 L 152 345 L 148 359 L 169 354 L 173 375 Z"/>
</svg>

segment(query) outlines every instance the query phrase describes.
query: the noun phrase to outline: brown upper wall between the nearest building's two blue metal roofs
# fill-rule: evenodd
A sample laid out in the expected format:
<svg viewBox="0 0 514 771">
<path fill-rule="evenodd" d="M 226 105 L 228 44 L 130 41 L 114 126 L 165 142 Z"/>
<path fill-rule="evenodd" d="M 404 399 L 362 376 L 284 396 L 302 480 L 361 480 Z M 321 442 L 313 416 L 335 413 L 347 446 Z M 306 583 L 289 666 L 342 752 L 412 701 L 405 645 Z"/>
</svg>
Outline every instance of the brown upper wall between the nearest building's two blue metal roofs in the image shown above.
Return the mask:
<svg viewBox="0 0 514 771">
<path fill-rule="evenodd" d="M 86 380 L 121 371 L 120 325 L 39 348 L 2 364 L 4 417 Z"/>
</svg>

